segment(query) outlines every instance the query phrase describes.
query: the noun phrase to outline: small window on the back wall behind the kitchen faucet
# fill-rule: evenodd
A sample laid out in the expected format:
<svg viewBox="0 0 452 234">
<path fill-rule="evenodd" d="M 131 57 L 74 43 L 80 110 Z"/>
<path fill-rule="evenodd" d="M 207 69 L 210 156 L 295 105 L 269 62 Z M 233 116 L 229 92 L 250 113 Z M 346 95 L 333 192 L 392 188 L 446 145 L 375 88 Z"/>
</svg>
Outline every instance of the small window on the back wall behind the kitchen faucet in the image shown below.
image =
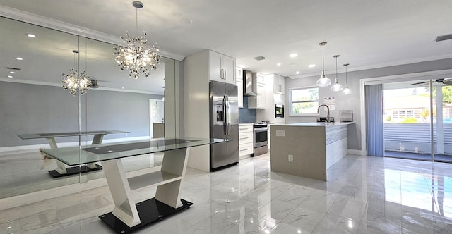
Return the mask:
<svg viewBox="0 0 452 234">
<path fill-rule="evenodd" d="M 290 114 L 316 114 L 319 107 L 319 87 L 290 90 Z"/>
</svg>

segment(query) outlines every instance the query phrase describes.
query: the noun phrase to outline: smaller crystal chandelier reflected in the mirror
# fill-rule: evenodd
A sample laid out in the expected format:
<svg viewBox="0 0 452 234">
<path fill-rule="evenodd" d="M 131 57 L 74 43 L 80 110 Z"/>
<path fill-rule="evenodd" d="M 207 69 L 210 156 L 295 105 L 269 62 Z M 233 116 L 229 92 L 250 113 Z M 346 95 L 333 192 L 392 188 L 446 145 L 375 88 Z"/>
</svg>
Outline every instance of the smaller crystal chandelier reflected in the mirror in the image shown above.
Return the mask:
<svg viewBox="0 0 452 234">
<path fill-rule="evenodd" d="M 78 50 L 73 50 L 73 63 L 76 66 L 76 54 L 78 54 Z M 70 94 L 76 96 L 78 90 L 80 90 L 81 94 L 85 94 L 88 92 L 88 87 L 91 85 L 90 77 L 85 75 L 85 72 L 82 72 L 80 76 L 78 76 L 77 70 L 74 68 L 69 69 L 68 74 L 61 74 L 62 79 L 61 83 L 64 90 L 68 90 Z"/>
</svg>

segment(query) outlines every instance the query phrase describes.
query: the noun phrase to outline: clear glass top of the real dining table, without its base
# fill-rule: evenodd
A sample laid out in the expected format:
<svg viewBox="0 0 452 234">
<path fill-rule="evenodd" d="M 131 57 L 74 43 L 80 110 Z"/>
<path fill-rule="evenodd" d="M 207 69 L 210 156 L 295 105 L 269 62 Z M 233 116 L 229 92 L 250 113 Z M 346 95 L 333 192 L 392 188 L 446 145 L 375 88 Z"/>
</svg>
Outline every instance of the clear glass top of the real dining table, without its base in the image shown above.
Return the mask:
<svg viewBox="0 0 452 234">
<path fill-rule="evenodd" d="M 43 152 L 64 164 L 76 166 L 97 161 L 121 159 L 129 156 L 165 152 L 174 149 L 184 149 L 206 144 L 230 141 L 218 138 L 154 138 L 151 140 L 119 142 L 110 144 L 92 144 L 83 147 L 66 147 L 44 149 Z"/>
</svg>

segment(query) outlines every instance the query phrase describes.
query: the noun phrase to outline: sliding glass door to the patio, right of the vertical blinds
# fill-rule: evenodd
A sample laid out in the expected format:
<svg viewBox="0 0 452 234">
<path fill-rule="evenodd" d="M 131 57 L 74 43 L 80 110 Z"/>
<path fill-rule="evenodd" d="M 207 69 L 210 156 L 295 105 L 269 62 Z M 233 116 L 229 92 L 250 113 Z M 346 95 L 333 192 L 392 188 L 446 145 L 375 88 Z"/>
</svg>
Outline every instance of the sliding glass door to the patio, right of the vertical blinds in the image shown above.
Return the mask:
<svg viewBox="0 0 452 234">
<path fill-rule="evenodd" d="M 452 87 L 443 81 L 383 85 L 384 156 L 452 161 Z"/>
</svg>

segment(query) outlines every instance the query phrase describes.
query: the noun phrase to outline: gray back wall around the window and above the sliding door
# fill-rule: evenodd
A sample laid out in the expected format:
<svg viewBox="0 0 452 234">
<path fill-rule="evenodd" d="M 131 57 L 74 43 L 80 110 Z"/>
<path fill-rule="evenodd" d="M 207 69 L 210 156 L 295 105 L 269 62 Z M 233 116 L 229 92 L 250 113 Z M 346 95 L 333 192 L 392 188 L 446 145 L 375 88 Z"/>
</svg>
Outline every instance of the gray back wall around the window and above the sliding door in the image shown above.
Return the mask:
<svg viewBox="0 0 452 234">
<path fill-rule="evenodd" d="M 349 61 L 347 61 L 349 62 Z M 452 68 L 452 58 L 441 59 L 436 61 L 427 61 L 420 63 L 410 63 L 399 66 L 388 66 L 384 68 L 374 68 L 369 70 L 357 70 L 348 72 L 348 86 L 352 89 L 353 93 L 351 95 L 344 95 L 343 92 L 333 92 L 330 90 L 330 87 L 321 87 L 319 88 L 319 99 L 323 104 L 324 97 L 335 97 L 335 110 L 331 112 L 331 116 L 335 117 L 336 120 L 339 120 L 339 110 L 340 109 L 352 109 L 353 110 L 353 118 L 355 121 L 355 125 L 348 126 L 348 147 L 349 149 L 362 149 L 361 142 L 361 130 L 365 128 L 365 126 L 361 125 L 361 104 L 360 104 L 360 91 L 359 91 L 359 80 L 364 78 L 378 78 L 388 75 L 403 75 L 408 73 L 421 73 L 427 71 L 434 70 L 446 70 Z M 344 69 L 341 69 L 344 70 Z M 352 61 L 350 61 L 349 70 L 353 70 Z M 327 74 L 332 81 L 334 81 L 335 74 L 328 73 Z M 290 93 L 289 90 L 294 87 L 304 87 L 304 86 L 313 86 L 316 85 L 316 81 L 319 79 L 320 74 L 308 77 L 308 78 L 298 78 L 298 79 L 290 79 L 285 78 L 285 123 L 300 123 L 300 122 L 314 122 L 316 121 L 315 116 L 309 117 L 295 117 L 290 116 Z M 345 84 L 345 74 L 338 74 L 339 82 Z M 321 111 L 321 116 L 326 116 L 326 112 Z"/>
</svg>

